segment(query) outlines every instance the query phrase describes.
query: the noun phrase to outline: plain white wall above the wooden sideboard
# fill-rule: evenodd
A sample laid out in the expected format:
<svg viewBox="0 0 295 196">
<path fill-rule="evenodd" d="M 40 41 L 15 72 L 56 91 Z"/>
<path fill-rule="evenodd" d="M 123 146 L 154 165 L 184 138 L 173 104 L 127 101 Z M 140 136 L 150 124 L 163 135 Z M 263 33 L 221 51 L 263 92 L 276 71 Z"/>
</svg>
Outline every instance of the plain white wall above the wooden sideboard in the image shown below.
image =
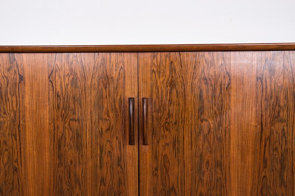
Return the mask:
<svg viewBox="0 0 295 196">
<path fill-rule="evenodd" d="M 295 42 L 295 0 L 0 0 L 0 45 Z"/>
</svg>

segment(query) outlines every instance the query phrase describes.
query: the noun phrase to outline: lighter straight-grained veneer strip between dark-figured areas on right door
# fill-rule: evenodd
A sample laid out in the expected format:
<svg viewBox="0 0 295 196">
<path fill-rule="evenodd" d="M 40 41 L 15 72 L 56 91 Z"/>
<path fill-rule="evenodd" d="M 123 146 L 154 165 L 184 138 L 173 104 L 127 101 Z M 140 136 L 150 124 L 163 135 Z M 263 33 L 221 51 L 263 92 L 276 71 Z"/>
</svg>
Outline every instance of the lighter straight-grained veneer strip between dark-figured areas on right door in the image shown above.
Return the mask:
<svg viewBox="0 0 295 196">
<path fill-rule="evenodd" d="M 256 195 L 266 52 L 233 52 L 230 67 L 229 194 Z"/>
</svg>

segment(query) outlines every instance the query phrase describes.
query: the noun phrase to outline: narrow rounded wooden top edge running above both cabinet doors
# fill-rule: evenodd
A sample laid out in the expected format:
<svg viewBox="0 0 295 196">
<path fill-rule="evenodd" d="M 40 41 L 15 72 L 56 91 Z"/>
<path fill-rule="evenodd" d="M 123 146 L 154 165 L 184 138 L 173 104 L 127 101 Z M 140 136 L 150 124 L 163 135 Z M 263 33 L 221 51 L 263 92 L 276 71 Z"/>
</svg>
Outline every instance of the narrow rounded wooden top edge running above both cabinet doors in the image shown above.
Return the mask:
<svg viewBox="0 0 295 196">
<path fill-rule="evenodd" d="M 295 43 L 272 44 L 173 44 L 97 46 L 0 46 L 1 53 L 41 52 L 165 52 L 165 51 L 261 51 L 295 50 Z"/>
</svg>

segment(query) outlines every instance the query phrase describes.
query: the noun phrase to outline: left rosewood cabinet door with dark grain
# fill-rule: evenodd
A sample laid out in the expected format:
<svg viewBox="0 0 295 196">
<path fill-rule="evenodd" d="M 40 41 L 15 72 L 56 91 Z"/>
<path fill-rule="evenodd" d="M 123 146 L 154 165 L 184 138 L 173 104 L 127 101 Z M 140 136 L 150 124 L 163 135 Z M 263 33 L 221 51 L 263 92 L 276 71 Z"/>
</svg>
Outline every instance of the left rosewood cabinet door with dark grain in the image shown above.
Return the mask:
<svg viewBox="0 0 295 196">
<path fill-rule="evenodd" d="M 0 195 L 137 196 L 137 67 L 137 53 L 0 54 Z"/>
</svg>

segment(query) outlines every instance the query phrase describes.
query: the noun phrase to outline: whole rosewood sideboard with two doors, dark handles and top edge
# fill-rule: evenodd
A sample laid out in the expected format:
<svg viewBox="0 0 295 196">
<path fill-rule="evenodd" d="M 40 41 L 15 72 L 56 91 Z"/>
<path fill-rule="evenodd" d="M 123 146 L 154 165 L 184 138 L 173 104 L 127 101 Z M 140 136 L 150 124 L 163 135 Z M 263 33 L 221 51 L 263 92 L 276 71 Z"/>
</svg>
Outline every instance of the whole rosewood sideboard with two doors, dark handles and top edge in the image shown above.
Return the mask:
<svg viewBox="0 0 295 196">
<path fill-rule="evenodd" d="M 295 195 L 295 44 L 0 52 L 0 196 Z"/>
</svg>

